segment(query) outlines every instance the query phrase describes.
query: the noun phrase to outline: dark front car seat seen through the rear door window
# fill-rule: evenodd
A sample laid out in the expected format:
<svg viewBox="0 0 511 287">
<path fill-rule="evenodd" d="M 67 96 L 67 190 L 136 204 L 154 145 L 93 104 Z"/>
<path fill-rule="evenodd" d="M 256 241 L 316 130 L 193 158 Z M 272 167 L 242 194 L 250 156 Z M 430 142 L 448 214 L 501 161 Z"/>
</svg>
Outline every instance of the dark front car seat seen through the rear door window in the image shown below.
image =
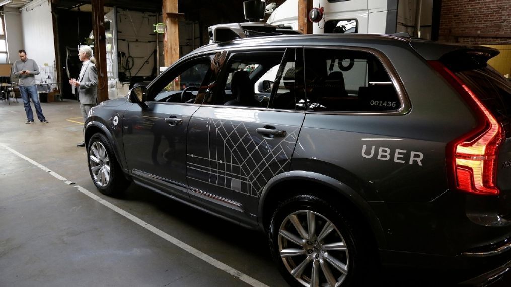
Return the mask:
<svg viewBox="0 0 511 287">
<path fill-rule="evenodd" d="M 247 71 L 237 71 L 233 74 L 230 91 L 233 93 L 234 99 L 226 101 L 225 106 L 260 106 L 260 102 L 255 99 L 254 85 L 250 82 Z"/>
</svg>

